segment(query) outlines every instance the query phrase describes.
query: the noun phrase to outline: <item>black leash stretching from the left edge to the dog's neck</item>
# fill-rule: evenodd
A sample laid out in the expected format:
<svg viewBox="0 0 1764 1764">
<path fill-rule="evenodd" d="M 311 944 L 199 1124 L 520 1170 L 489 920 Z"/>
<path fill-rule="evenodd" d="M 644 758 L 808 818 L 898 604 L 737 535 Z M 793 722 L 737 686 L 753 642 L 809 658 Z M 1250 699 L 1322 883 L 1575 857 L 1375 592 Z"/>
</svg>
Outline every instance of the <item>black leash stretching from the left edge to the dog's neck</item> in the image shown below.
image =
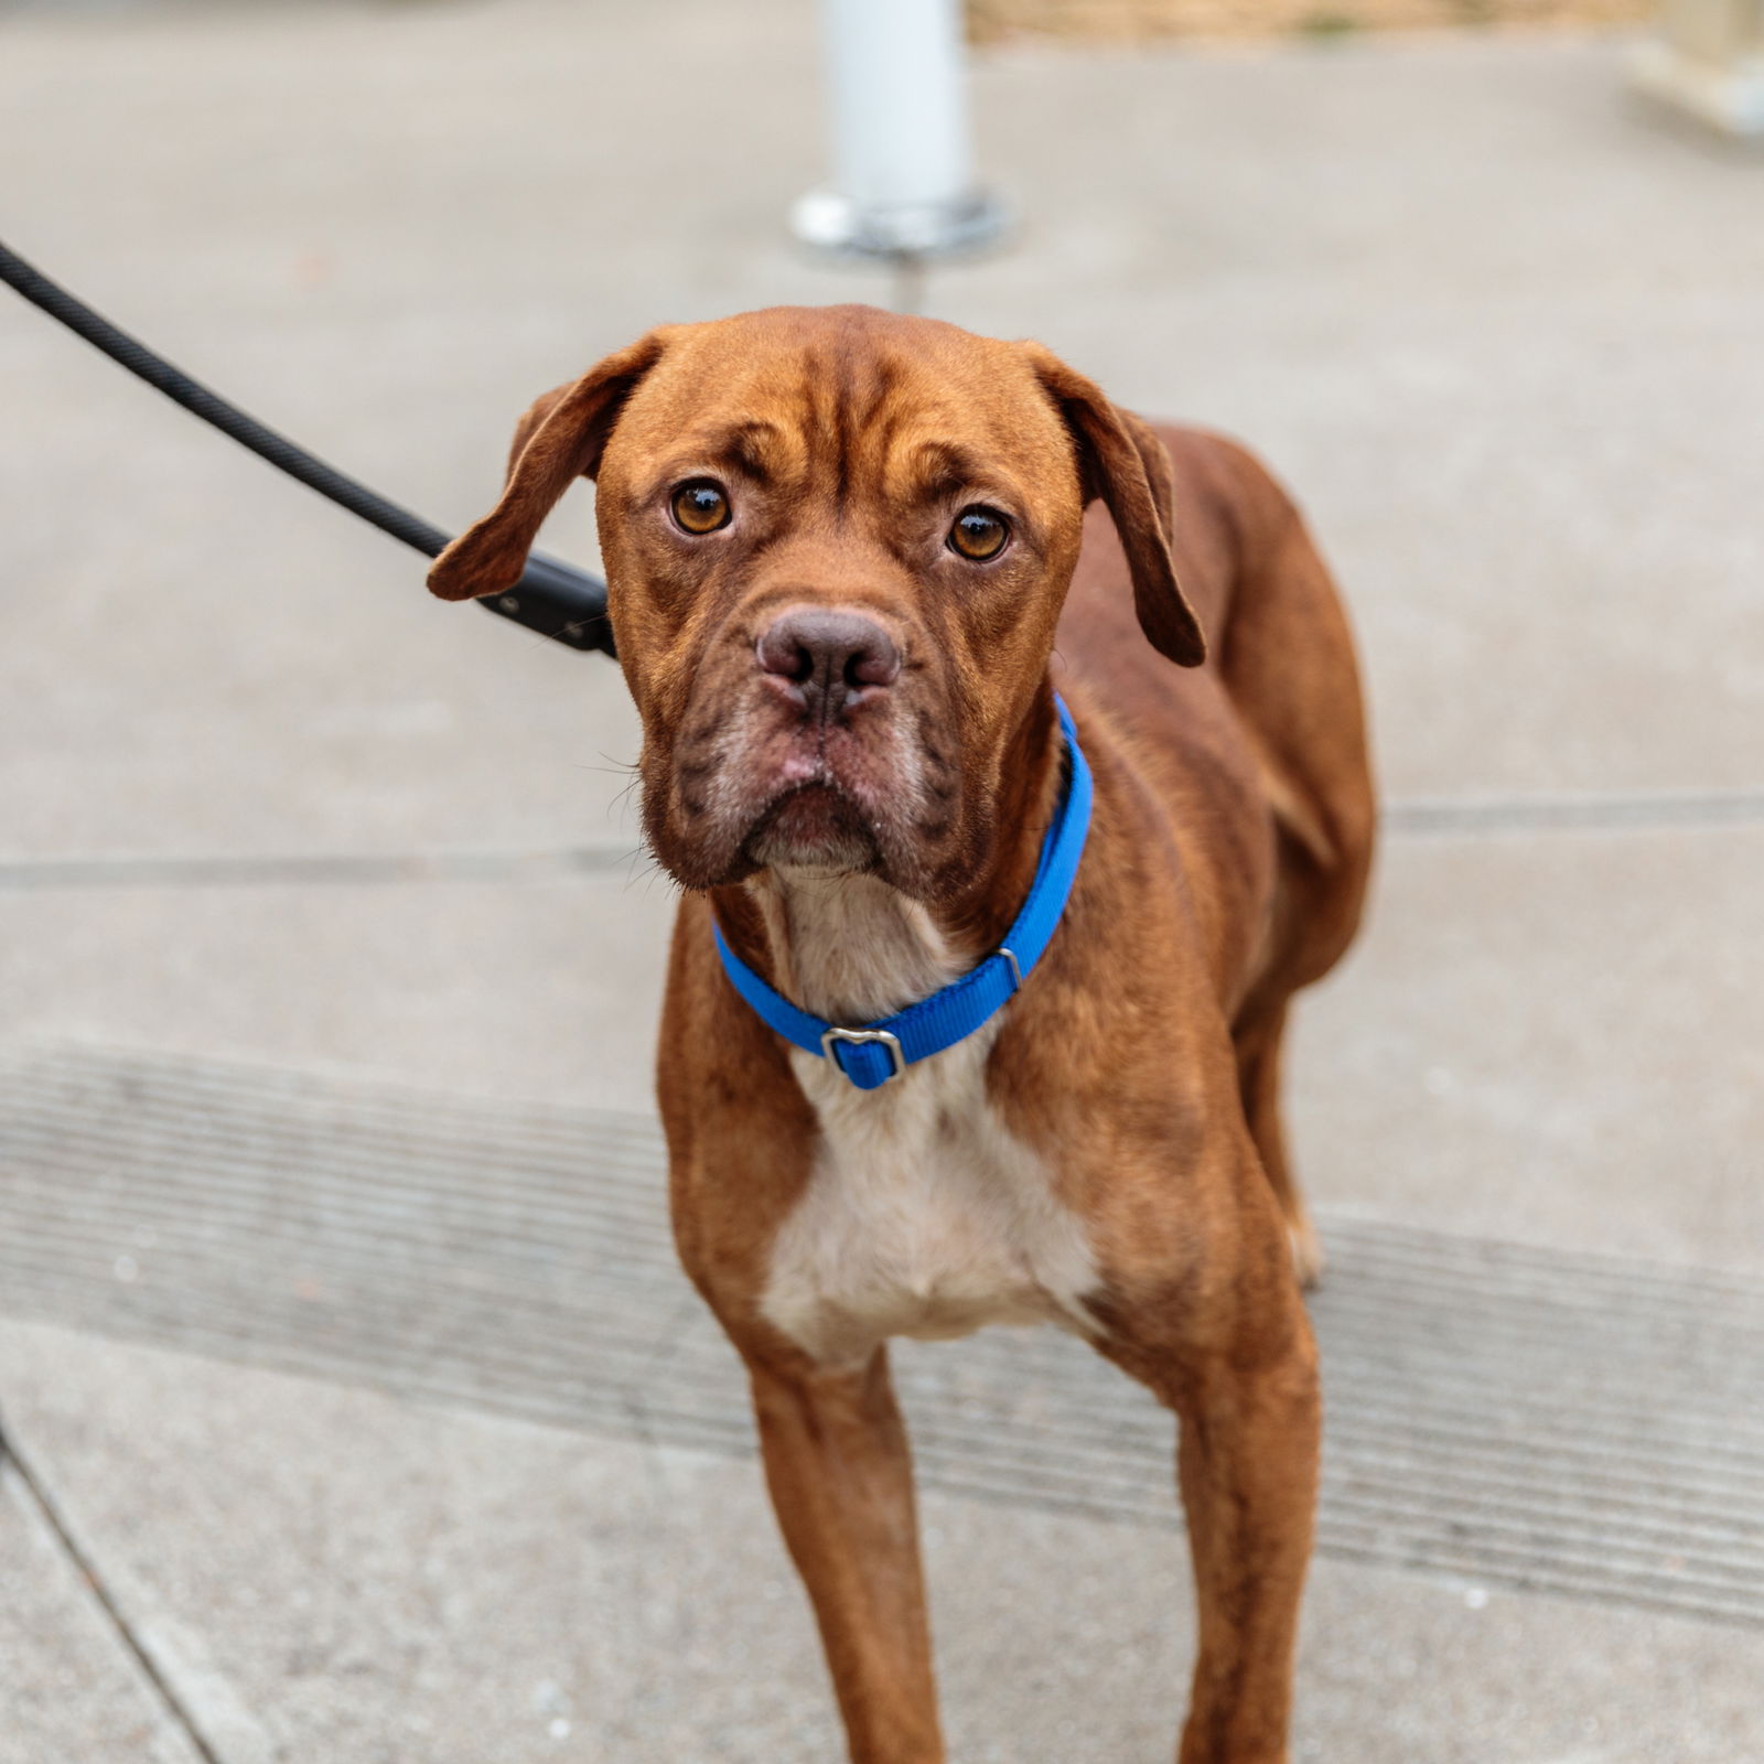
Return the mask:
<svg viewBox="0 0 1764 1764">
<path fill-rule="evenodd" d="M 192 416 L 212 423 L 240 446 L 266 459 L 277 471 L 298 478 L 319 496 L 337 503 L 339 508 L 348 508 L 351 515 L 360 515 L 381 533 L 390 533 L 425 557 L 436 557 L 446 547 L 448 534 L 439 527 L 432 527 L 407 508 L 399 508 L 397 503 L 376 496 L 355 478 L 346 478 L 335 466 L 326 466 L 325 460 L 295 446 L 273 429 L 265 429 L 236 404 L 228 404 L 226 399 L 191 379 L 164 356 L 153 355 L 146 344 L 116 330 L 109 319 L 101 318 L 83 300 L 76 300 L 65 288 L 51 282 L 41 270 L 34 270 L 4 243 L 0 243 L 0 282 L 18 289 L 34 307 L 60 319 L 76 337 L 85 337 L 93 349 L 102 349 L 113 362 L 145 379 L 175 404 L 182 404 Z M 524 624 L 529 632 L 568 644 L 572 649 L 603 649 L 612 654 L 607 584 L 557 557 L 533 552 L 526 573 L 506 594 L 494 594 L 489 600 L 480 600 L 478 605 Z"/>
</svg>

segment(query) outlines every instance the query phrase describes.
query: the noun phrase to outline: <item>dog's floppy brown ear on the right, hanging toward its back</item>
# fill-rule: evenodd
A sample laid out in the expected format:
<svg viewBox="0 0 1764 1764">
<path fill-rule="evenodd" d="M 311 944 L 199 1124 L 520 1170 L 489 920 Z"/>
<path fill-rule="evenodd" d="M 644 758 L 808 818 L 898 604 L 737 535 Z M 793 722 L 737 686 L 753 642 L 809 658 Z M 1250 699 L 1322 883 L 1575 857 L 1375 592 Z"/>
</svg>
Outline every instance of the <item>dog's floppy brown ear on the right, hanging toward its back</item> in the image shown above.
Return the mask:
<svg viewBox="0 0 1764 1764">
<path fill-rule="evenodd" d="M 1152 646 L 1182 667 L 1207 660 L 1207 637 L 1170 557 L 1175 476 L 1152 427 L 1117 409 L 1099 386 L 1041 344 L 1027 344 L 1048 397 L 1078 445 L 1087 503 L 1102 497 L 1132 572 L 1132 605 Z"/>
</svg>

